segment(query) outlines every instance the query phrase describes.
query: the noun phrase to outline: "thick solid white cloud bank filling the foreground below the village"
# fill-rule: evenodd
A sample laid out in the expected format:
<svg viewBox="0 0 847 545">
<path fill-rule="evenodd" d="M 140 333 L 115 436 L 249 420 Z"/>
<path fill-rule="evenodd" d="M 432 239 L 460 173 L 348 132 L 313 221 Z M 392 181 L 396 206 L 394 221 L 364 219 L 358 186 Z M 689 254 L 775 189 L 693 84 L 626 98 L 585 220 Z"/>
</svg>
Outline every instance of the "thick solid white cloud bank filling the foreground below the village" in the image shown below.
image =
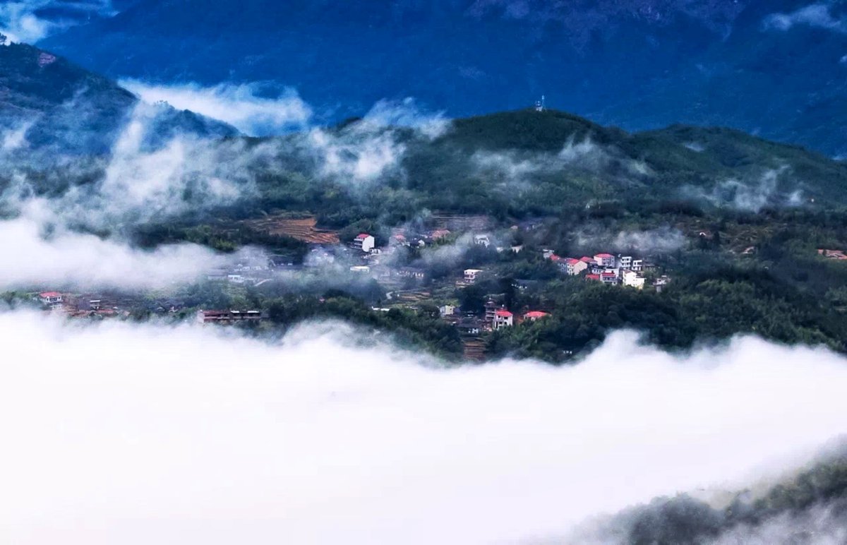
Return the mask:
<svg viewBox="0 0 847 545">
<path fill-rule="evenodd" d="M 745 338 L 679 360 L 620 333 L 575 367 L 445 370 L 353 338 L 0 314 L 5 537 L 531 542 L 738 488 L 845 427 L 847 364 L 822 350 Z"/>
</svg>

